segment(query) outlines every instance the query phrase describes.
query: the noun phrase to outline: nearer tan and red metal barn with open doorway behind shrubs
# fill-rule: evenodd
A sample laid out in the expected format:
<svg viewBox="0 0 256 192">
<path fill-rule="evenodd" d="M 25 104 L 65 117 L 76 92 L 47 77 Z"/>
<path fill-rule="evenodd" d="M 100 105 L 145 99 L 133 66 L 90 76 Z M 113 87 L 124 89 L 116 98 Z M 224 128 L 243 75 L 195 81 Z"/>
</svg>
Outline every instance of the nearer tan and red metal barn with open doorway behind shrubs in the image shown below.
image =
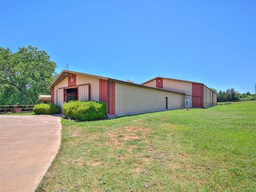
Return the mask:
<svg viewBox="0 0 256 192">
<path fill-rule="evenodd" d="M 183 92 L 152 85 L 62 70 L 48 88 L 51 102 L 61 111 L 68 100 L 104 101 L 109 117 L 184 108 L 187 96 Z"/>
</svg>

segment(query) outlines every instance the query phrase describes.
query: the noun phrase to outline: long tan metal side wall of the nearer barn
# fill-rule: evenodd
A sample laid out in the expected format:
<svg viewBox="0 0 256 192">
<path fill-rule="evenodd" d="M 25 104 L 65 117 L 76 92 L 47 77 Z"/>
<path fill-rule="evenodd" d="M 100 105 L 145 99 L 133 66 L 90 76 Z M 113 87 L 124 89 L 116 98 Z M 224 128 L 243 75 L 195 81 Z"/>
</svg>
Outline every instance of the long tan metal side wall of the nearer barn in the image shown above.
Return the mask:
<svg viewBox="0 0 256 192">
<path fill-rule="evenodd" d="M 184 95 L 127 84 L 115 84 L 115 114 L 184 108 Z"/>
</svg>

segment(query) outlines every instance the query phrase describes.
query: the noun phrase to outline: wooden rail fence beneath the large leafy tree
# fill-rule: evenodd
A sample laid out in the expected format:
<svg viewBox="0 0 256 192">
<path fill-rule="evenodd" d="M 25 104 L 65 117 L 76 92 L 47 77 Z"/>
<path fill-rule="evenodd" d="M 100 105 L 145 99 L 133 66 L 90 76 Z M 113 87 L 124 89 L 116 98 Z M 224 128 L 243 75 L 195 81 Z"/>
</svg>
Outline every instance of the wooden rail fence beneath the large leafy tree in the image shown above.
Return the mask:
<svg viewBox="0 0 256 192">
<path fill-rule="evenodd" d="M 35 105 L 0 105 L 0 114 L 2 113 L 18 113 L 33 112 Z"/>
</svg>

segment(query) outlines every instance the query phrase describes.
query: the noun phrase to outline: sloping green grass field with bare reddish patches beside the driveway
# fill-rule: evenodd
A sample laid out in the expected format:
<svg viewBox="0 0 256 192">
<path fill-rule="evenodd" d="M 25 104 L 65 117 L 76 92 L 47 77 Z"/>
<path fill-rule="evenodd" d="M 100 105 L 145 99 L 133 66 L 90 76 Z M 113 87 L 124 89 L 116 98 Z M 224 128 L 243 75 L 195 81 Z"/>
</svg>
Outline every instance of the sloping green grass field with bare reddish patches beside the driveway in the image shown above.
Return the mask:
<svg viewBox="0 0 256 192">
<path fill-rule="evenodd" d="M 256 101 L 112 120 L 62 119 L 36 192 L 253 192 Z"/>
</svg>

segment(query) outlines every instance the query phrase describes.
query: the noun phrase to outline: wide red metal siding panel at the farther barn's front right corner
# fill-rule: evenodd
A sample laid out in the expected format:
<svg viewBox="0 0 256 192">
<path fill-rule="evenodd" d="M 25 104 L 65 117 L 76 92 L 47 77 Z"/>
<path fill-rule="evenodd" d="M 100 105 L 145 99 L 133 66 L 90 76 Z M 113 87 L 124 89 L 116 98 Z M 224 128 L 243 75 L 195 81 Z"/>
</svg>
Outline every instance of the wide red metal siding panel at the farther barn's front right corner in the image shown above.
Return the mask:
<svg viewBox="0 0 256 192">
<path fill-rule="evenodd" d="M 192 107 L 202 107 L 203 105 L 203 85 L 192 83 Z"/>
</svg>

